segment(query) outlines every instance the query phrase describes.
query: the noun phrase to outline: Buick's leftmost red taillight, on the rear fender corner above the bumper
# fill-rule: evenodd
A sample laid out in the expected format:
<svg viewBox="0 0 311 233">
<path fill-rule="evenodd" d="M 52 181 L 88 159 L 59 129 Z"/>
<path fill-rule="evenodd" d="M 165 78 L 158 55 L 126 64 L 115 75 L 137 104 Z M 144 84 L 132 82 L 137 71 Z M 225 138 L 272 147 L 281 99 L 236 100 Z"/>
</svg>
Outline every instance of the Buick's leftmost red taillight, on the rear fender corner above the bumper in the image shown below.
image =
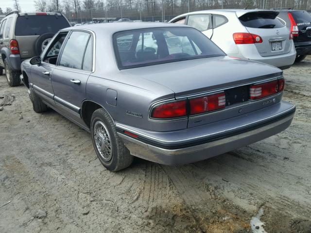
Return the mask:
<svg viewBox="0 0 311 233">
<path fill-rule="evenodd" d="M 187 116 L 186 103 L 186 100 L 181 100 L 157 105 L 152 110 L 151 117 L 164 119 Z"/>
</svg>

